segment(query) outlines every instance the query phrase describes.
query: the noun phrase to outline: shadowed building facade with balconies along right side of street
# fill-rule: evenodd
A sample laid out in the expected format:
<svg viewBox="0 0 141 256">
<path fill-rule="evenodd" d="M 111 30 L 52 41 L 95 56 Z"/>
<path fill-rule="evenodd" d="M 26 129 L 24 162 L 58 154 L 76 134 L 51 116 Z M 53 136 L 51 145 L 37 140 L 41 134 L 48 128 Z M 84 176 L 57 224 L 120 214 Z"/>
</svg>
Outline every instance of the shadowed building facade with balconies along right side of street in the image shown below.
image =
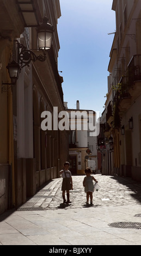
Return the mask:
<svg viewBox="0 0 141 256">
<path fill-rule="evenodd" d="M 113 174 L 131 176 L 140 181 L 140 1 L 114 0 L 112 10 L 115 11 L 116 32 L 108 65 L 106 118 L 103 121 L 105 138 L 113 138 Z M 109 168 L 106 169 L 110 174 Z"/>
</svg>

